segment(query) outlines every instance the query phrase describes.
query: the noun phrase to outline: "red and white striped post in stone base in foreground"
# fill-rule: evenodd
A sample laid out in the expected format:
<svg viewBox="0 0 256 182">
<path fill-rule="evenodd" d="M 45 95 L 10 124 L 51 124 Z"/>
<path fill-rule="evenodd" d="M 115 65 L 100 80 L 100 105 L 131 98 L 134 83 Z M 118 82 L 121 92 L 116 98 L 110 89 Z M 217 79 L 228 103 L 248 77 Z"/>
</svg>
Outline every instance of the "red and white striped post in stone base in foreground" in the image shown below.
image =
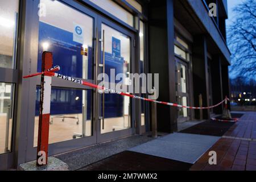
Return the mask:
<svg viewBox="0 0 256 182">
<path fill-rule="evenodd" d="M 42 72 L 52 68 L 52 53 L 43 52 Z M 51 84 L 52 76 L 43 74 L 41 76 L 40 89 L 40 113 L 38 126 L 38 150 L 36 166 L 44 166 L 48 163 L 48 139 L 49 139 L 49 118 L 51 107 Z"/>
</svg>

